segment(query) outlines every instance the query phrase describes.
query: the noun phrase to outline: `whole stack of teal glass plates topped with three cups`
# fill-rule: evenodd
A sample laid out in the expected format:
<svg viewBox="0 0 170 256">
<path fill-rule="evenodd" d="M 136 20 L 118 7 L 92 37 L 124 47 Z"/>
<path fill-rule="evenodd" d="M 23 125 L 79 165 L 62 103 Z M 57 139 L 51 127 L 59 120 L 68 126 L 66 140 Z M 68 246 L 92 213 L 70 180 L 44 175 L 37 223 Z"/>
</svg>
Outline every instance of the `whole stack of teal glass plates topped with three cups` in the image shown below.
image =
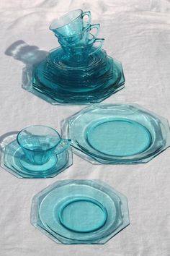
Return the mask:
<svg viewBox="0 0 170 256">
<path fill-rule="evenodd" d="M 99 24 L 84 22 L 83 17 L 76 10 L 50 25 L 61 47 L 33 68 L 27 90 L 53 105 L 99 103 L 124 88 L 122 64 L 102 50 L 104 38 L 96 38 Z M 60 28 L 68 34 L 59 35 Z M 92 29 L 96 34 L 91 34 Z"/>
</svg>

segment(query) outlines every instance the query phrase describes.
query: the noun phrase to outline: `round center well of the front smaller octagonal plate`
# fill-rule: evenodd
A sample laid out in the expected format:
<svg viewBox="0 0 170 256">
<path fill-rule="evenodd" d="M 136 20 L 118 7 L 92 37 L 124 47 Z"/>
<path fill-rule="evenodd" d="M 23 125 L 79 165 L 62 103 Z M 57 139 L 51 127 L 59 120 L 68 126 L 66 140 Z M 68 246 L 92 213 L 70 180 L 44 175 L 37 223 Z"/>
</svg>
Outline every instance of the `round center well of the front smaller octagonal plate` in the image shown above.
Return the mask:
<svg viewBox="0 0 170 256">
<path fill-rule="evenodd" d="M 66 200 L 58 213 L 61 224 L 71 231 L 91 232 L 104 226 L 107 210 L 97 200 L 76 197 Z"/>
</svg>

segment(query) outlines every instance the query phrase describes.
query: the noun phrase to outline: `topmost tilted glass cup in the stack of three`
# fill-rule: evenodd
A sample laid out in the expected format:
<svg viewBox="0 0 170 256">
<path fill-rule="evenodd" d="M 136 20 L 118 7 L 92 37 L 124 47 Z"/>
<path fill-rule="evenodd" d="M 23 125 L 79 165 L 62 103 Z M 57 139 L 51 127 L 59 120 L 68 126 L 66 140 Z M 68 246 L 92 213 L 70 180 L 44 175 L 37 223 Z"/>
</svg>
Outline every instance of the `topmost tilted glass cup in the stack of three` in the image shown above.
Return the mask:
<svg viewBox="0 0 170 256">
<path fill-rule="evenodd" d="M 71 36 L 82 33 L 84 29 L 84 16 L 88 17 L 88 23 L 91 23 L 91 12 L 83 12 L 81 9 L 73 10 L 54 20 L 50 25 L 57 36 Z"/>
</svg>

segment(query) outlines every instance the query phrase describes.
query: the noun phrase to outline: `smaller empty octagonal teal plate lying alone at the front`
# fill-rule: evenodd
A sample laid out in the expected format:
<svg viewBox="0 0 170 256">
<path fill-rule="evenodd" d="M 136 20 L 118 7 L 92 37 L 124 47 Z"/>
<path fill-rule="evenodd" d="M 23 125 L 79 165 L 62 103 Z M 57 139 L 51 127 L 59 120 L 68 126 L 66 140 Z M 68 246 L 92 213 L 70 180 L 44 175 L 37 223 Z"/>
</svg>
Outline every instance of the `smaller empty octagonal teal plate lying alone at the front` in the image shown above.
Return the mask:
<svg viewBox="0 0 170 256">
<path fill-rule="evenodd" d="M 31 223 L 57 243 L 104 244 L 128 226 L 128 201 L 98 180 L 65 180 L 32 200 Z"/>
</svg>

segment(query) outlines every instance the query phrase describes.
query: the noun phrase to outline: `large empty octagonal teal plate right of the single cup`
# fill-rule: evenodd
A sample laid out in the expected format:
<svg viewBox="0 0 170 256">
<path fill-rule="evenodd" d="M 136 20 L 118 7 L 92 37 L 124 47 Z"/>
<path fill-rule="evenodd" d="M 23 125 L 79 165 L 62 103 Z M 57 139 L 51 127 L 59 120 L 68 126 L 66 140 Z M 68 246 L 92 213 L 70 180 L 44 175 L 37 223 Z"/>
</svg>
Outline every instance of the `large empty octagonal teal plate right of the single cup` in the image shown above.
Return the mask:
<svg viewBox="0 0 170 256">
<path fill-rule="evenodd" d="M 170 145 L 169 123 L 136 104 L 97 104 L 63 120 L 63 137 L 91 163 L 146 163 Z"/>
</svg>

